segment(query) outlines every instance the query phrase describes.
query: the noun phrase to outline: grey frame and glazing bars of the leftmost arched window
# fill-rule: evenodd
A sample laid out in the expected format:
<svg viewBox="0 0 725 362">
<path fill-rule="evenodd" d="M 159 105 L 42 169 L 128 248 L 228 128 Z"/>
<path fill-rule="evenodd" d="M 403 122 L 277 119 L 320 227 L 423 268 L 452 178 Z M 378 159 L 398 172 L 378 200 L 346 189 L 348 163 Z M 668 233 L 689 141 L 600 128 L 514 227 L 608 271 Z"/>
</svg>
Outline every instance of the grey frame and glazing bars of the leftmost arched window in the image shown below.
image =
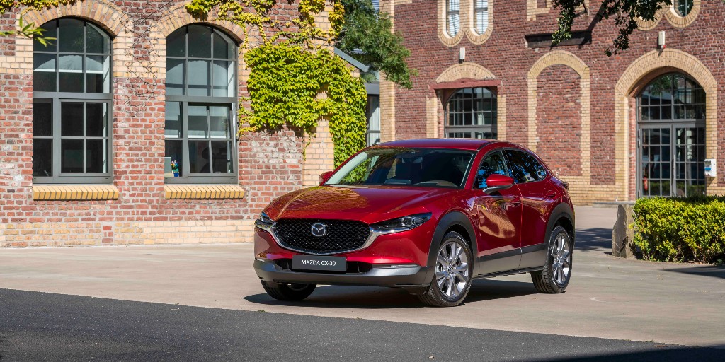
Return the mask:
<svg viewBox="0 0 725 362">
<path fill-rule="evenodd" d="M 52 166 L 52 175 L 51 176 L 35 176 L 33 175 L 33 184 L 40 184 L 40 185 L 63 185 L 63 184 L 106 184 L 109 185 L 113 182 L 113 156 L 114 156 L 114 150 L 113 150 L 113 111 L 114 111 L 114 101 L 113 101 L 113 37 L 111 34 L 109 34 L 106 30 L 101 28 L 99 25 L 94 24 L 91 21 L 88 21 L 83 18 L 79 17 L 59 17 L 54 20 L 49 20 L 49 22 L 44 23 L 41 25 L 41 28 L 46 28 L 47 25 L 51 22 L 55 24 L 55 34 L 57 36 L 57 30 L 59 29 L 59 21 L 62 19 L 73 19 L 73 20 L 80 20 L 83 22 L 83 52 L 63 52 L 60 51 L 60 44 L 56 44 L 56 49 L 54 51 L 36 51 L 33 49 L 33 59 L 35 59 L 36 54 L 55 54 L 56 55 L 56 64 L 55 64 L 55 75 L 56 75 L 56 85 L 55 89 L 56 91 L 39 91 L 39 90 L 33 90 L 33 103 L 36 102 L 36 100 L 49 100 L 51 103 L 52 111 L 51 111 L 51 124 L 52 124 L 52 131 L 51 136 L 36 136 L 33 134 L 33 140 L 36 139 L 51 139 L 53 142 L 52 150 L 51 150 L 51 157 L 53 158 L 53 166 Z M 108 52 L 104 53 L 88 53 L 86 48 L 86 41 L 87 41 L 87 35 L 86 35 L 86 26 L 90 24 L 94 26 L 97 30 L 102 31 L 105 35 L 108 37 L 109 41 L 109 49 Z M 62 41 L 62 38 L 59 39 Z M 61 92 L 58 91 L 60 84 L 59 84 L 59 54 L 75 54 L 75 55 L 81 55 L 83 56 L 83 70 L 81 70 L 81 73 L 83 74 L 83 92 Z M 108 62 L 109 62 L 109 91 L 108 93 L 87 93 L 86 87 L 87 87 L 87 65 L 86 65 L 86 58 L 88 56 L 108 56 Z M 33 66 L 33 72 L 35 72 L 35 66 Z M 107 135 L 103 136 L 103 139 L 107 139 L 107 149 L 106 149 L 106 157 L 107 157 L 107 172 L 105 173 L 63 173 L 61 172 L 62 169 L 62 148 L 61 148 L 61 140 L 62 140 L 62 130 L 61 130 L 61 104 L 62 103 L 83 103 L 84 104 L 84 112 L 85 112 L 85 104 L 86 103 L 105 103 L 108 106 L 108 114 L 107 114 Z M 83 120 L 83 125 L 85 127 L 86 125 L 85 115 Z M 83 130 L 84 134 L 86 130 Z M 85 141 L 88 139 L 86 135 L 83 136 L 76 136 L 78 139 L 83 139 L 84 141 L 84 151 L 85 151 Z M 96 137 L 93 137 L 96 138 Z M 83 167 L 87 167 L 86 164 L 86 152 L 83 152 Z M 32 167 L 31 167 L 32 169 Z M 34 170 L 33 170 L 34 171 Z"/>
</svg>

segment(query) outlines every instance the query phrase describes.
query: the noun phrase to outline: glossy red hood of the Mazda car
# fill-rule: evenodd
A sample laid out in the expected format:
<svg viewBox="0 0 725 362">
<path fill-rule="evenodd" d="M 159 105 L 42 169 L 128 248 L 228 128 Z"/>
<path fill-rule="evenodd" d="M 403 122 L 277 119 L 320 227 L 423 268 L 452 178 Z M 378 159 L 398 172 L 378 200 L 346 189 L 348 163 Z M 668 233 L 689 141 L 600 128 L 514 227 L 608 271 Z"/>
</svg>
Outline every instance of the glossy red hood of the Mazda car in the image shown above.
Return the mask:
<svg viewBox="0 0 725 362">
<path fill-rule="evenodd" d="M 270 203 L 272 219 L 355 219 L 373 224 L 428 212 L 425 205 L 456 190 L 399 186 L 318 186 Z"/>
</svg>

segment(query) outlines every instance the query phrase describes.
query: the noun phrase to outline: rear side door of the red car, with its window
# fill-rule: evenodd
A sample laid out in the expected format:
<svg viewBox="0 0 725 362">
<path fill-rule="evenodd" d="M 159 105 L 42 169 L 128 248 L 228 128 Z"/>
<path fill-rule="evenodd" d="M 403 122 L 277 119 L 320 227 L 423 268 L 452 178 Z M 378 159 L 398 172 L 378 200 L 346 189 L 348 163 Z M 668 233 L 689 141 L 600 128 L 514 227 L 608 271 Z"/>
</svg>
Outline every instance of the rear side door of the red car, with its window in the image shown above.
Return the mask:
<svg viewBox="0 0 725 362">
<path fill-rule="evenodd" d="M 521 194 L 521 268 L 541 266 L 546 253 L 550 211 L 559 198 L 547 181 L 547 171 L 536 157 L 523 150 L 506 150 L 510 176 Z M 540 259 L 540 260 L 539 260 Z"/>
</svg>

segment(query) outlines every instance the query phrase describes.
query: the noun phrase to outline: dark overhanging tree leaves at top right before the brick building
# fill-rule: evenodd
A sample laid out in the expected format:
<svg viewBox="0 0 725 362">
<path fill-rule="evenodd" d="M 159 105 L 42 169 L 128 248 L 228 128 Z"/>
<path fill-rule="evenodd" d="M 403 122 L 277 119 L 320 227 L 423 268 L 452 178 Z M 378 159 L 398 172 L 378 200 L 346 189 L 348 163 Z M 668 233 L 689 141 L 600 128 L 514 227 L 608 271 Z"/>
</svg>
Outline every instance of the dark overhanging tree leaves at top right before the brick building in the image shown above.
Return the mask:
<svg viewBox="0 0 725 362">
<path fill-rule="evenodd" d="M 608 56 L 629 49 L 629 35 L 637 30 L 637 22 L 655 20 L 657 12 L 672 5 L 671 0 L 604 0 L 595 14 L 592 23 L 613 17 L 617 26 L 617 37 L 612 41 L 612 47 L 605 50 Z M 552 36 L 556 45 L 564 39 L 571 38 L 571 26 L 581 14 L 587 14 L 589 9 L 584 7 L 584 0 L 552 0 L 554 9 L 559 9 L 559 28 Z M 579 9 L 584 9 L 579 11 Z"/>
</svg>

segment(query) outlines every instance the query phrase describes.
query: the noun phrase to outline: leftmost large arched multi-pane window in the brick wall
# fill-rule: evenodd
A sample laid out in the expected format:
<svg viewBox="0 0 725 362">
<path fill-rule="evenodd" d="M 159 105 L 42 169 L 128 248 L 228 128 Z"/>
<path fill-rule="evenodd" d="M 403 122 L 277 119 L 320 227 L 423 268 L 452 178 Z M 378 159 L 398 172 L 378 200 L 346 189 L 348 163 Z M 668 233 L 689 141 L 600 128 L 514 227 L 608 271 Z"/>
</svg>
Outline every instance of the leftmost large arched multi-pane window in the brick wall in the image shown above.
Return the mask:
<svg viewBox="0 0 725 362">
<path fill-rule="evenodd" d="M 85 20 L 41 26 L 33 48 L 33 181 L 111 182 L 111 38 Z"/>
</svg>

